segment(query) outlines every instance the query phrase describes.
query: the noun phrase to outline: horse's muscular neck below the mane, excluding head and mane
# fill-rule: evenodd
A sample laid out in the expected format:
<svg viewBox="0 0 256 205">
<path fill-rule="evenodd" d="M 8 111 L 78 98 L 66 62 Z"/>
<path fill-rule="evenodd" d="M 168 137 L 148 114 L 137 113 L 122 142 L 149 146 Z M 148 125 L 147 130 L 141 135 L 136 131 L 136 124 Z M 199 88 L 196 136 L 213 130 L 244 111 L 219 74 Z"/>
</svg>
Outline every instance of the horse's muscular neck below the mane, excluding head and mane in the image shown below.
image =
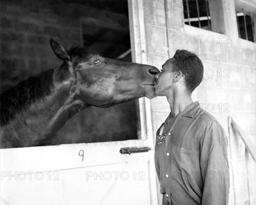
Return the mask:
<svg viewBox="0 0 256 205">
<path fill-rule="evenodd" d="M 54 71 L 49 95 L 30 104 L 29 109 L 16 114 L 15 120 L 3 127 L 4 136 L 8 137 L 5 141 L 14 144 L 10 147 L 56 144 L 61 127 L 86 107 L 70 92 L 73 81 L 69 76 L 59 75 L 58 69 Z"/>
</svg>

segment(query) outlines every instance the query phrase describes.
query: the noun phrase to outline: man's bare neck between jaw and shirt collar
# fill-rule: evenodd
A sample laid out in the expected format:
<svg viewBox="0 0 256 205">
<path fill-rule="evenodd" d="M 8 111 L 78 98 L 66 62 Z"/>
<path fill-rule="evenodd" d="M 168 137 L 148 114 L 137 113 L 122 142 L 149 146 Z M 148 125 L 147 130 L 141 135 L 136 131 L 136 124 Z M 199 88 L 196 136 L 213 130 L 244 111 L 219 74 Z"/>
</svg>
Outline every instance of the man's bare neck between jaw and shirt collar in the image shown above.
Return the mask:
<svg viewBox="0 0 256 205">
<path fill-rule="evenodd" d="M 193 103 L 191 95 L 186 93 L 171 93 L 166 97 L 171 108 L 170 118 L 176 118 L 189 104 Z"/>
</svg>

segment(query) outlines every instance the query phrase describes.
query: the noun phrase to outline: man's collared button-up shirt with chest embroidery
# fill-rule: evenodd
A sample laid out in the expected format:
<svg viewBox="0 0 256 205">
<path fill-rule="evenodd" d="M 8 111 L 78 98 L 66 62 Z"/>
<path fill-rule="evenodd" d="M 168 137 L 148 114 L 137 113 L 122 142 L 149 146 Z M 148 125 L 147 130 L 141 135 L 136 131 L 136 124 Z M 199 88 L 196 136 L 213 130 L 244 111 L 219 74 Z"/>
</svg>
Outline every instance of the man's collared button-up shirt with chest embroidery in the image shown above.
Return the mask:
<svg viewBox="0 0 256 205">
<path fill-rule="evenodd" d="M 170 125 L 169 117 L 157 130 L 155 145 L 160 193 L 174 205 L 228 204 L 229 144 L 219 122 L 198 101 Z"/>
</svg>

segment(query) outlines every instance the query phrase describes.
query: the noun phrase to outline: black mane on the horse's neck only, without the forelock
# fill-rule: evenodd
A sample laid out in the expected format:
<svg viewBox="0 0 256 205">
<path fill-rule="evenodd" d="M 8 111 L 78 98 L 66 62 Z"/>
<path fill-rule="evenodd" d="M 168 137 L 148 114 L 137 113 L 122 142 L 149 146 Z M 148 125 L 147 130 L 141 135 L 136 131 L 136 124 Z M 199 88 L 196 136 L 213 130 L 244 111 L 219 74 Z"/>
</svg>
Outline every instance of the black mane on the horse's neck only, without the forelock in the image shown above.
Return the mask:
<svg viewBox="0 0 256 205">
<path fill-rule="evenodd" d="M 16 113 L 49 95 L 53 86 L 53 72 L 54 69 L 43 71 L 3 92 L 0 95 L 0 125 L 7 124 Z"/>
</svg>

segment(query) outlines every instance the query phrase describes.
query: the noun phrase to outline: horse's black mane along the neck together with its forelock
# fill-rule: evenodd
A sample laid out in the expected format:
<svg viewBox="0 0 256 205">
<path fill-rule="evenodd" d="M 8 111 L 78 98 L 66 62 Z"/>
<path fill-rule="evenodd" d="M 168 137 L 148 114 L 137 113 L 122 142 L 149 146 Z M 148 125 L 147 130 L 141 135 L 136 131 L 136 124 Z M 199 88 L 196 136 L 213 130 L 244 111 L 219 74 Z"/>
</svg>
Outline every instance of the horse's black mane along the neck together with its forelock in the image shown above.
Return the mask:
<svg viewBox="0 0 256 205">
<path fill-rule="evenodd" d="M 72 56 L 73 61 L 83 59 L 85 61 L 93 54 L 99 54 L 88 50 L 82 46 L 73 46 L 69 50 L 69 55 Z M 78 62 L 75 62 L 78 63 Z M 58 68 L 58 78 L 65 78 L 64 75 L 67 63 L 63 63 Z M 16 87 L 6 90 L 0 95 L 0 125 L 7 124 L 15 117 L 15 114 L 23 109 L 26 109 L 30 104 L 44 98 L 51 92 L 53 86 L 54 69 L 41 72 L 39 75 L 30 77 L 25 81 L 21 81 Z"/>
</svg>

